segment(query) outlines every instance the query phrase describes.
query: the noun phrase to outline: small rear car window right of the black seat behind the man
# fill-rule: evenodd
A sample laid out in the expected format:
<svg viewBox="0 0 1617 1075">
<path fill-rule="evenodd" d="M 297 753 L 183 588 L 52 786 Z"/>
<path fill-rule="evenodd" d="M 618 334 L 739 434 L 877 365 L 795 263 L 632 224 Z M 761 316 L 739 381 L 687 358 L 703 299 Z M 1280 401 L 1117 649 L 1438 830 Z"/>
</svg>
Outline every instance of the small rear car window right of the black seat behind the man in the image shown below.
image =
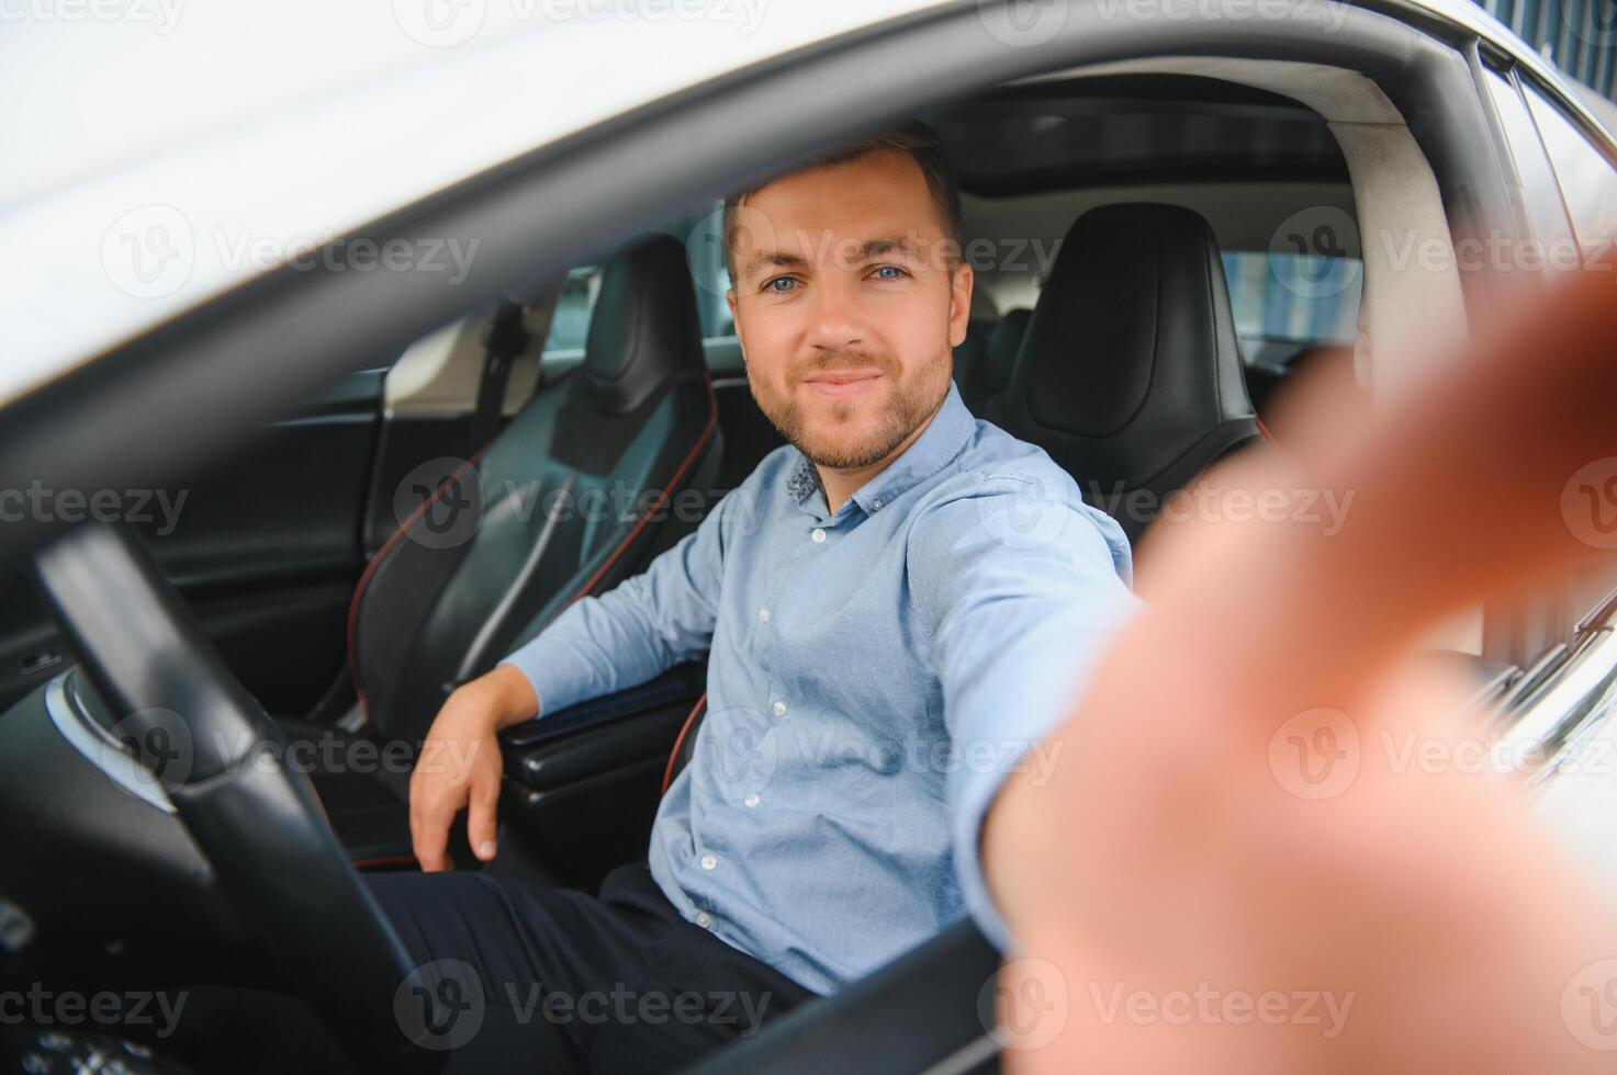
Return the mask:
<svg viewBox="0 0 1617 1075">
<path fill-rule="evenodd" d="M 1224 251 L 1222 257 L 1248 360 L 1260 351 L 1295 354 L 1295 344 L 1353 341 L 1365 278 L 1357 257 L 1273 251 Z"/>
</svg>

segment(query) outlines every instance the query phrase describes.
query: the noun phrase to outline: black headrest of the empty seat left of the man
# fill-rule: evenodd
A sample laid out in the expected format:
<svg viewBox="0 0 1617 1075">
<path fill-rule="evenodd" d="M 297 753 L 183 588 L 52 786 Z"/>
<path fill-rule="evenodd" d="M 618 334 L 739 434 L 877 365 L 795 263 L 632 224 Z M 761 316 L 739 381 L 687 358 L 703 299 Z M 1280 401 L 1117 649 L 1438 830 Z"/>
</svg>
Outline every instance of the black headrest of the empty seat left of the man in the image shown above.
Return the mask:
<svg viewBox="0 0 1617 1075">
<path fill-rule="evenodd" d="M 584 341 L 579 390 L 585 403 L 603 414 L 627 414 L 671 378 L 703 369 L 684 246 L 657 234 L 614 252 Z"/>
</svg>

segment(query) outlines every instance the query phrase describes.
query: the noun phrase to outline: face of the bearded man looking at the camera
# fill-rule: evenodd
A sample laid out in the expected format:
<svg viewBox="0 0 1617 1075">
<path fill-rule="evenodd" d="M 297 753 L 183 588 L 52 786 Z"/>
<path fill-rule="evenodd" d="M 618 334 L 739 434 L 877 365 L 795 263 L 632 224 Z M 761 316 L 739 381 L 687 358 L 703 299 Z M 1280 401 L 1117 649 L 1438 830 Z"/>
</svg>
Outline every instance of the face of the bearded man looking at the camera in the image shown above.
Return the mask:
<svg viewBox="0 0 1617 1075">
<path fill-rule="evenodd" d="M 728 297 L 763 414 L 821 467 L 881 462 L 943 403 L 970 312 L 920 167 L 878 150 L 791 175 L 737 225 Z"/>
</svg>

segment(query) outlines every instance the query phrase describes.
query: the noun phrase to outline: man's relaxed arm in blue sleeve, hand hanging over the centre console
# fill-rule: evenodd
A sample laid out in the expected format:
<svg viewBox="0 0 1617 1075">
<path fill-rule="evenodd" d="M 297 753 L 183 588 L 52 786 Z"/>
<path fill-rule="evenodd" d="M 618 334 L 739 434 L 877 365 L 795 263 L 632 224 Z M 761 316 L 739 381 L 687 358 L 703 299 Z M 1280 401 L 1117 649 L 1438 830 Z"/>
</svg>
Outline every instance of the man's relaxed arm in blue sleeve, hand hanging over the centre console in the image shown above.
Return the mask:
<svg viewBox="0 0 1617 1075">
<path fill-rule="evenodd" d="M 707 650 L 723 574 L 723 514 L 602 597 L 574 601 L 492 672 L 459 687 L 432 723 L 411 773 L 411 841 L 420 868 L 445 870 L 454 815 L 472 852 L 495 857 L 501 729 L 642 684 Z"/>
</svg>

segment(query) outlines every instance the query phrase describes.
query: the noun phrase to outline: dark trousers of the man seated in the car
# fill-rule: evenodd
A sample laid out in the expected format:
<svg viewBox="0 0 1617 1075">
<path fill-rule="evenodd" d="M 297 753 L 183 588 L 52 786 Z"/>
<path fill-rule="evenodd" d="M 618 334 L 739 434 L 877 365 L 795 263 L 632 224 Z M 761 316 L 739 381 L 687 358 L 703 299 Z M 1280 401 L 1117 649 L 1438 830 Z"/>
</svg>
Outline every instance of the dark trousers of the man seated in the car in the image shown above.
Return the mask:
<svg viewBox="0 0 1617 1075">
<path fill-rule="evenodd" d="M 645 863 L 600 896 L 483 873 L 367 878 L 420 963 L 399 1022 L 450 1072 L 674 1072 L 813 993 L 686 921 Z"/>
</svg>

